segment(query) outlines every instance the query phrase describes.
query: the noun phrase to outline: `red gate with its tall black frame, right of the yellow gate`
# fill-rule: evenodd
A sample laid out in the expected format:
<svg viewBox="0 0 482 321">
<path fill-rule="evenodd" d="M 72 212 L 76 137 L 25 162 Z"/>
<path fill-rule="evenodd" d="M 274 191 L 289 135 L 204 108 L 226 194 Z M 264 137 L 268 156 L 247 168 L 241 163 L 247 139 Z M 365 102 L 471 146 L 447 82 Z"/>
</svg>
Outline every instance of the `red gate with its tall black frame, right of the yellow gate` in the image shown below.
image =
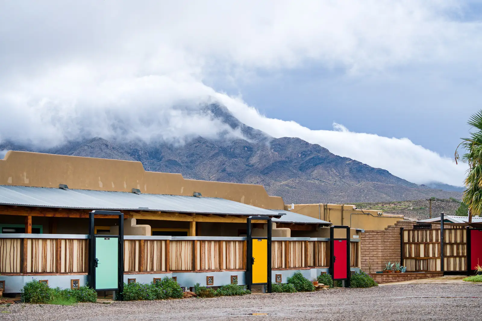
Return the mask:
<svg viewBox="0 0 482 321">
<path fill-rule="evenodd" d="M 346 230 L 346 237 L 335 238 L 335 229 Z M 348 226 L 330 227 L 329 270 L 334 281 L 345 281 L 345 287 L 350 286 L 350 228 Z"/>
</svg>

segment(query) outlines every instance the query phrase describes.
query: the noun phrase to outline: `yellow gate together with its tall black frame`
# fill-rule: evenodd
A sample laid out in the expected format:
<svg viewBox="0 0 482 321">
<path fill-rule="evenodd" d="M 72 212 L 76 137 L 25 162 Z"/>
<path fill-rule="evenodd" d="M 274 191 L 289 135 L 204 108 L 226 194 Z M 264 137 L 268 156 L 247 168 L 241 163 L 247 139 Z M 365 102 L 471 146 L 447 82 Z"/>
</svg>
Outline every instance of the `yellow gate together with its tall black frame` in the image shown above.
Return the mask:
<svg viewBox="0 0 482 321">
<path fill-rule="evenodd" d="M 251 220 L 266 220 L 268 231 L 266 237 L 252 237 Z M 266 285 L 271 293 L 271 218 L 247 218 L 246 233 L 246 285 L 249 290 L 253 284 Z"/>
</svg>

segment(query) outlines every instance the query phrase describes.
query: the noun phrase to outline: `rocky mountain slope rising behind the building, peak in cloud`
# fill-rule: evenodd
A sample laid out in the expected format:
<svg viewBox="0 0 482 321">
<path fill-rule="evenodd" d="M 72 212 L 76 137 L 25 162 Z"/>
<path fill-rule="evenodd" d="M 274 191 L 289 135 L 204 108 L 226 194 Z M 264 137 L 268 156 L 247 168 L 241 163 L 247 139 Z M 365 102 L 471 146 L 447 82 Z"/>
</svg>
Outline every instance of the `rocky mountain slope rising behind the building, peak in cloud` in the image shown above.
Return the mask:
<svg viewBox="0 0 482 321">
<path fill-rule="evenodd" d="M 222 134 L 217 140 L 198 137 L 183 146 L 173 146 L 165 142 L 107 141 L 96 137 L 69 141 L 53 149 L 3 142 L 0 150 L 136 160 L 146 170 L 182 173 L 191 179 L 262 184 L 269 194 L 282 196 L 285 203 L 387 202 L 461 196 L 458 192 L 411 183 L 387 170 L 332 154 L 299 138 L 269 137 L 242 124 L 222 106 L 207 108 L 213 117 L 240 129 L 245 139 Z"/>
</svg>

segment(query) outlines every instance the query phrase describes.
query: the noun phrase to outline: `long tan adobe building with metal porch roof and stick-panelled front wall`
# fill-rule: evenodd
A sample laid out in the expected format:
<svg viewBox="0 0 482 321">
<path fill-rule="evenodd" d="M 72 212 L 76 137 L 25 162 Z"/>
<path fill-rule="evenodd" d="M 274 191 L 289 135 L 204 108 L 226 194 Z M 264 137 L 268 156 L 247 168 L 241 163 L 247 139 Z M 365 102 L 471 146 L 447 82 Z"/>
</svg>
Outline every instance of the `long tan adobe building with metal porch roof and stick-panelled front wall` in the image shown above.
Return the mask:
<svg viewBox="0 0 482 321">
<path fill-rule="evenodd" d="M 328 272 L 333 225 L 351 228 L 347 264 L 360 270 L 363 231 L 402 219 L 353 205 L 291 207 L 261 185 L 188 180 L 133 161 L 9 151 L 0 160 L 0 284 L 6 293 L 32 277 L 85 284 L 89 212 L 98 210 L 123 213 L 125 282 L 170 276 L 186 287 L 244 284 L 249 217 L 272 219 L 273 282 L 296 271 L 308 278 Z M 266 220 L 252 223 L 253 237 L 267 235 Z M 119 225 L 95 215 L 94 229 L 116 235 Z M 345 236 L 335 230 L 335 238 Z"/>
</svg>

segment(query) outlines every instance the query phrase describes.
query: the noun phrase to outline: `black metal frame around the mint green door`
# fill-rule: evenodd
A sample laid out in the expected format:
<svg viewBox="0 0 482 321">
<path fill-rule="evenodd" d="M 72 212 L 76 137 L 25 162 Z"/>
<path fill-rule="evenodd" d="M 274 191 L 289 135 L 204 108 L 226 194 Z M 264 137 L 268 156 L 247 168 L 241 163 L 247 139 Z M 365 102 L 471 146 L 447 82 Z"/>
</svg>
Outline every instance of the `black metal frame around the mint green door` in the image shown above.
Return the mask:
<svg viewBox="0 0 482 321">
<path fill-rule="evenodd" d="M 95 215 L 117 215 L 119 217 L 119 235 L 95 235 L 94 216 Z M 117 269 L 117 288 L 116 289 L 95 289 L 95 239 L 97 237 L 118 238 L 118 269 Z M 117 291 L 117 300 L 123 301 L 124 291 L 124 214 L 120 211 L 100 211 L 89 212 L 89 273 L 87 282 L 97 291 Z"/>
</svg>

